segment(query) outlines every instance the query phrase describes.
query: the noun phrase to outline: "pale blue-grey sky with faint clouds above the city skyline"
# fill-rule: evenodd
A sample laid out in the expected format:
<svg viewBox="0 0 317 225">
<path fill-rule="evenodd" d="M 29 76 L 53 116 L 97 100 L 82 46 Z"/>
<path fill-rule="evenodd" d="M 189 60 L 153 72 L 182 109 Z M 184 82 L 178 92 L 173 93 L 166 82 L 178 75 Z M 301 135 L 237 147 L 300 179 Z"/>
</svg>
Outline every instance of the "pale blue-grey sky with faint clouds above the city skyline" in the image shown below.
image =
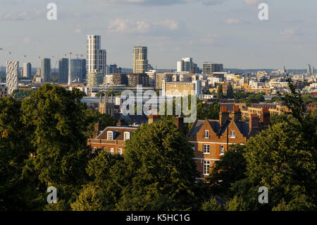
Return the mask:
<svg viewBox="0 0 317 225">
<path fill-rule="evenodd" d="M 268 20 L 258 18 L 262 2 Z M 49 3 L 57 20 L 46 18 Z M 148 47 L 154 68 L 185 57 L 200 68 L 317 67 L 316 11 L 316 0 L 0 0 L 0 66 L 39 67 L 45 57 L 57 68 L 67 52 L 86 58 L 86 35 L 101 35 L 107 64 L 123 68 L 132 68 L 137 45 Z"/>
</svg>

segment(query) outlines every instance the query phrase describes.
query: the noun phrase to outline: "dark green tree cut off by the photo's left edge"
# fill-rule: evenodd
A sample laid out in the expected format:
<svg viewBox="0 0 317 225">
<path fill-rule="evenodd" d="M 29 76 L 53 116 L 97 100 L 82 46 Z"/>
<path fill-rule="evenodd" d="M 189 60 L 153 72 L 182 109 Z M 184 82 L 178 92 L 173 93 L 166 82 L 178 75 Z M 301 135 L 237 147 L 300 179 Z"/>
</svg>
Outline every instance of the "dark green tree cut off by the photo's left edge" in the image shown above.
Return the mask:
<svg viewBox="0 0 317 225">
<path fill-rule="evenodd" d="M 30 210 L 41 205 L 32 179 L 23 176 L 33 148 L 20 105 L 13 97 L 0 98 L 0 210 Z"/>
</svg>

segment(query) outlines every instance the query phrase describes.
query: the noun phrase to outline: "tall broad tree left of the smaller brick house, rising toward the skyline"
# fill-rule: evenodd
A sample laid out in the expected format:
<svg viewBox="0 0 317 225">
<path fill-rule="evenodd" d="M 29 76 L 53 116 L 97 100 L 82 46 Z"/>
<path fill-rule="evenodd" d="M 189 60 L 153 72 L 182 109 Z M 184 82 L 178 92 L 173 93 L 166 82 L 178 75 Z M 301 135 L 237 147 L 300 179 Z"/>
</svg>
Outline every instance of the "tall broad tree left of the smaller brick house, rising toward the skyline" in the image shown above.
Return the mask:
<svg viewBox="0 0 317 225">
<path fill-rule="evenodd" d="M 22 102 L 23 122 L 33 134 L 32 162 L 39 180 L 53 185 L 85 180 L 87 139 L 82 92 L 45 84 Z"/>
</svg>

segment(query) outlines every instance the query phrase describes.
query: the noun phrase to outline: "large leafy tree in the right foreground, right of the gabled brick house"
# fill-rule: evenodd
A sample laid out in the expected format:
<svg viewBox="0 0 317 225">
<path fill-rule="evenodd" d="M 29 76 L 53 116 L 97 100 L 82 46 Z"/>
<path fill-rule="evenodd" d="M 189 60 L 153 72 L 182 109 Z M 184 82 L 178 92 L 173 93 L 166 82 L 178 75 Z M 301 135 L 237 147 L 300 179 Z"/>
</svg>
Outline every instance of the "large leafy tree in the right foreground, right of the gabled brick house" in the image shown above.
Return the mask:
<svg viewBox="0 0 317 225">
<path fill-rule="evenodd" d="M 316 148 L 306 147 L 307 141 L 296 126 L 287 122 L 249 139 L 244 152 L 247 178 L 232 187 L 248 209 L 272 209 L 282 200 L 287 204 L 297 202 L 297 210 L 316 207 Z M 257 202 L 261 186 L 268 188 L 270 196 L 265 205 Z"/>
</svg>

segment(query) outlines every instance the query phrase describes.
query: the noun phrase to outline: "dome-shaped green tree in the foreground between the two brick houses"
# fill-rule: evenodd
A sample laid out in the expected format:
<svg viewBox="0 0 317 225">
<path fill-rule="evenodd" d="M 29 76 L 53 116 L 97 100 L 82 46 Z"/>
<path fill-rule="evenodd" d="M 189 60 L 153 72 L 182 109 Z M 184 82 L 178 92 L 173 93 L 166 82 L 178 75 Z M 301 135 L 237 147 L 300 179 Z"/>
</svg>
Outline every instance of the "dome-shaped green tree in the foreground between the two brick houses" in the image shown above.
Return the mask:
<svg viewBox="0 0 317 225">
<path fill-rule="evenodd" d="M 194 152 L 173 123 L 138 128 L 125 147 L 127 186 L 120 210 L 188 209 L 195 200 Z"/>
</svg>

